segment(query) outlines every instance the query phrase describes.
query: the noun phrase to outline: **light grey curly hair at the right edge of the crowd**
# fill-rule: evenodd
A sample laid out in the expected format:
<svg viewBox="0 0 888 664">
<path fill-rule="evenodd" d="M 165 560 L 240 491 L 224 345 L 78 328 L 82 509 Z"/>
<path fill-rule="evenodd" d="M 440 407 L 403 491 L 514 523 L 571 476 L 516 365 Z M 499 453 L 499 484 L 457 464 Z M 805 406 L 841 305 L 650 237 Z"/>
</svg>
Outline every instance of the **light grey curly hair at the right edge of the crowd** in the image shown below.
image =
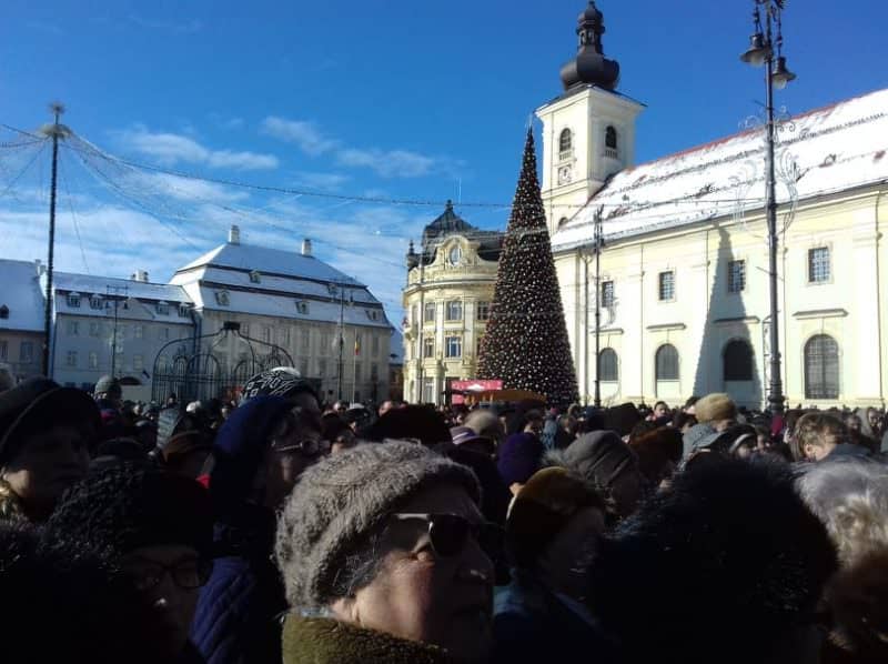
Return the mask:
<svg viewBox="0 0 888 664">
<path fill-rule="evenodd" d="M 888 546 L 888 467 L 842 460 L 814 465 L 798 480 L 808 507 L 824 522 L 848 565 Z"/>
</svg>

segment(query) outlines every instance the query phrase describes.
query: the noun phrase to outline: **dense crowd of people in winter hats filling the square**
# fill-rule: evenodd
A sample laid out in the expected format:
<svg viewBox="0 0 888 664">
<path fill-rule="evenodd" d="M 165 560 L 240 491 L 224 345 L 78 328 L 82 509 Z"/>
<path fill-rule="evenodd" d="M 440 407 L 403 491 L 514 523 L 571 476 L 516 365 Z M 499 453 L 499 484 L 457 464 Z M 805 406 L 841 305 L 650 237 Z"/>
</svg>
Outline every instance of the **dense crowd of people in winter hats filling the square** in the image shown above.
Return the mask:
<svg viewBox="0 0 888 664">
<path fill-rule="evenodd" d="M 0 385 L 10 662 L 888 661 L 876 409 Z"/>
</svg>

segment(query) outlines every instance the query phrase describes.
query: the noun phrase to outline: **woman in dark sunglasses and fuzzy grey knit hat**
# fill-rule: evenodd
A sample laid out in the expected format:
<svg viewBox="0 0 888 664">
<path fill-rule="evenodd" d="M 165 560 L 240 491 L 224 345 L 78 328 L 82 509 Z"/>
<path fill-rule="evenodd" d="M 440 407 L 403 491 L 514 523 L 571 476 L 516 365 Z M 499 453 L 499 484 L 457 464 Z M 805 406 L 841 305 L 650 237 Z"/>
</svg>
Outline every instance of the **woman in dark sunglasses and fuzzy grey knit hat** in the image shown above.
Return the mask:
<svg viewBox="0 0 888 664">
<path fill-rule="evenodd" d="M 415 443 L 309 469 L 278 524 L 285 664 L 484 662 L 496 529 L 474 474 Z"/>
</svg>

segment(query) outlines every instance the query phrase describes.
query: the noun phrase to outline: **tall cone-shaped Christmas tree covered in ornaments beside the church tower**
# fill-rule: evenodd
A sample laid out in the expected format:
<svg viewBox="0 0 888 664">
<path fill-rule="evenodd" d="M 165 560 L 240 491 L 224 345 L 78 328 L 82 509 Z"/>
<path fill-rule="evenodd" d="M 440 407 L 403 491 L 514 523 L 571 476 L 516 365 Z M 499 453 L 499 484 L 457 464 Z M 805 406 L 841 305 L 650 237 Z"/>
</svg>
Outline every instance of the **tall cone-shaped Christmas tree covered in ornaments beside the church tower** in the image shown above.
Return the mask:
<svg viewBox="0 0 888 664">
<path fill-rule="evenodd" d="M 552 259 L 546 213 L 536 177 L 533 131 L 527 131 L 518 187 L 500 256 L 496 289 L 481 345 L 478 378 L 505 389 L 545 394 L 566 408 L 577 401 L 562 295 Z"/>
</svg>

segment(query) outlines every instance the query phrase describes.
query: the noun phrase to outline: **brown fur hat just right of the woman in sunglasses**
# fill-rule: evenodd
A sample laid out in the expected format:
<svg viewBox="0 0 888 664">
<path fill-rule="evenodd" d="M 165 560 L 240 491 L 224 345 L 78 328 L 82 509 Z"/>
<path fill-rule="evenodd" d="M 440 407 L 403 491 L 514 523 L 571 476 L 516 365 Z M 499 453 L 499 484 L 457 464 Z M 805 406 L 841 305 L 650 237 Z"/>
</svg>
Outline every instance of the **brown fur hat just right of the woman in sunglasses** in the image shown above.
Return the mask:
<svg viewBox="0 0 888 664">
<path fill-rule="evenodd" d="M 564 467 L 547 467 L 522 487 L 506 522 L 508 555 L 518 567 L 531 567 L 567 522 L 584 507 L 604 513 L 592 484 Z"/>
</svg>

